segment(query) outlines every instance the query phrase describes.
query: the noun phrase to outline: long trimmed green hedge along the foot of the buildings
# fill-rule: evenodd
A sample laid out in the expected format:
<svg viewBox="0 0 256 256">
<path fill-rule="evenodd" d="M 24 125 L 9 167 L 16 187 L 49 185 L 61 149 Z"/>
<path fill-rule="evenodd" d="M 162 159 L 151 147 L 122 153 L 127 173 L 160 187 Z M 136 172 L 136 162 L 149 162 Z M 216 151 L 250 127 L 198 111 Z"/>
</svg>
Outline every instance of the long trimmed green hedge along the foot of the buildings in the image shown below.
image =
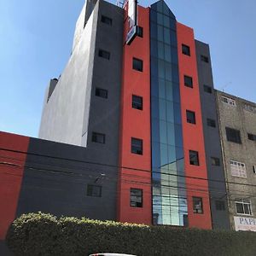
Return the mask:
<svg viewBox="0 0 256 256">
<path fill-rule="evenodd" d="M 120 224 L 86 218 L 56 218 L 41 212 L 22 215 L 6 237 L 15 255 L 255 256 L 253 232 L 212 231 Z"/>
</svg>

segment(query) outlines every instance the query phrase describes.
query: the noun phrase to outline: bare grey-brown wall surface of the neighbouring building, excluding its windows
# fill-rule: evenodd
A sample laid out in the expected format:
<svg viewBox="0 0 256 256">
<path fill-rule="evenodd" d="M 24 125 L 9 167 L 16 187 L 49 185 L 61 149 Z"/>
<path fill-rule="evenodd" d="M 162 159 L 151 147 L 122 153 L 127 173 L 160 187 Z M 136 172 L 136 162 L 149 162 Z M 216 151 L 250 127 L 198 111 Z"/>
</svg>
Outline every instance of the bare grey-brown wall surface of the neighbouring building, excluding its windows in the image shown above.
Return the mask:
<svg viewBox="0 0 256 256">
<path fill-rule="evenodd" d="M 236 198 L 247 198 L 251 201 L 253 217 L 256 217 L 256 175 L 253 166 L 256 165 L 256 142 L 248 140 L 247 133 L 256 134 L 256 113 L 245 110 L 245 105 L 256 109 L 256 104 L 247 102 L 236 96 L 216 91 L 218 102 L 218 116 L 222 148 L 224 154 L 224 170 L 229 198 L 230 223 L 234 226 L 234 216 L 248 217 L 236 213 Z M 236 106 L 222 102 L 222 96 L 235 100 Z M 241 144 L 227 141 L 225 127 L 230 127 L 241 132 Z M 230 172 L 230 160 L 244 163 L 247 170 L 247 178 L 234 177 Z M 235 184 L 241 183 L 241 184 Z M 253 184 L 250 186 L 248 184 Z"/>
</svg>

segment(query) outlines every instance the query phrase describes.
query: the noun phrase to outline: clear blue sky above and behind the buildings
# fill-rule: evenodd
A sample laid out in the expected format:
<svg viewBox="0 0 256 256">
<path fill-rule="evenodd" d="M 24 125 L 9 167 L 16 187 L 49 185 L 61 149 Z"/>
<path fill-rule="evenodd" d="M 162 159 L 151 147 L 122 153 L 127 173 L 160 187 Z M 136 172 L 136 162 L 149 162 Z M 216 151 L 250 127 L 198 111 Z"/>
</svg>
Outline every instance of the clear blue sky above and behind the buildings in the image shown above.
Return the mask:
<svg viewBox="0 0 256 256">
<path fill-rule="evenodd" d="M 177 21 L 194 28 L 196 39 L 210 44 L 215 88 L 256 102 L 256 1 L 166 3 Z M 44 91 L 67 64 L 83 5 L 0 0 L 0 131 L 38 137 Z"/>
</svg>

